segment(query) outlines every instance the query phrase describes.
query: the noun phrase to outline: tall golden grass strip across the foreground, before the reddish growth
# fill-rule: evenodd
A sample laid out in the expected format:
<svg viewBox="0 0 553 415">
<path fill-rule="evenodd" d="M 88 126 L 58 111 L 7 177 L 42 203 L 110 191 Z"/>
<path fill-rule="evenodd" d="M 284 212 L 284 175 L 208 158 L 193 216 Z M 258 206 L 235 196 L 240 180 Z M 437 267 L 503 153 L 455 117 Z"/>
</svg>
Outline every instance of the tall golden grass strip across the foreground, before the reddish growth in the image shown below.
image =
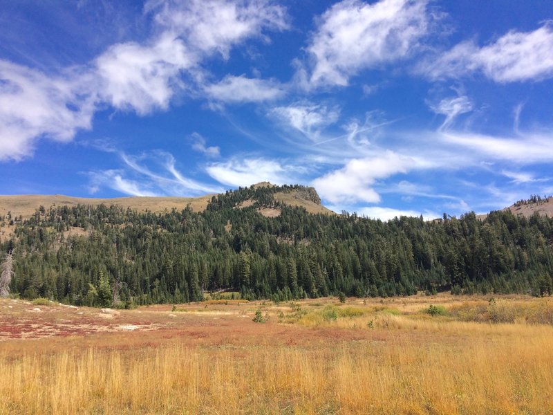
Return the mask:
<svg viewBox="0 0 553 415">
<path fill-rule="evenodd" d="M 550 413 L 553 338 L 144 349 L 0 363 L 3 413 Z"/>
</svg>

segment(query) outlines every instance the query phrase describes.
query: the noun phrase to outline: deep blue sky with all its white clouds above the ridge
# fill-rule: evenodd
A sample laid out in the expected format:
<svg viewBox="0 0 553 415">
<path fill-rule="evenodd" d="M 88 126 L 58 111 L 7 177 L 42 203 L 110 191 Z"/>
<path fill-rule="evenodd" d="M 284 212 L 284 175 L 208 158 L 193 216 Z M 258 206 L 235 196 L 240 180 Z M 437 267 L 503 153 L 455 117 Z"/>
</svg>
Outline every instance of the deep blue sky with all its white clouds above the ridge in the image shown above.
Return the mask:
<svg viewBox="0 0 553 415">
<path fill-rule="evenodd" d="M 382 220 L 553 194 L 549 0 L 0 0 L 0 194 L 261 181 Z"/>
</svg>

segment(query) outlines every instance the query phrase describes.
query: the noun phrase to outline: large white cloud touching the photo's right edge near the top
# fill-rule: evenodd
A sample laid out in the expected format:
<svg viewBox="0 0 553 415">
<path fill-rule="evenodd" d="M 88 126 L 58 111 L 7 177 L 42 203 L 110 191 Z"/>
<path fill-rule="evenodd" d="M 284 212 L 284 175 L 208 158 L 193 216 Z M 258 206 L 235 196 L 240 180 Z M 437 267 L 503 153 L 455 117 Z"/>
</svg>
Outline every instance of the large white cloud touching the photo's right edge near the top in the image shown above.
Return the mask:
<svg viewBox="0 0 553 415">
<path fill-rule="evenodd" d="M 481 71 L 503 83 L 549 78 L 553 76 L 553 30 L 550 23 L 533 32 L 512 30 L 482 48 L 462 42 L 421 64 L 419 71 L 433 79 Z"/>
</svg>

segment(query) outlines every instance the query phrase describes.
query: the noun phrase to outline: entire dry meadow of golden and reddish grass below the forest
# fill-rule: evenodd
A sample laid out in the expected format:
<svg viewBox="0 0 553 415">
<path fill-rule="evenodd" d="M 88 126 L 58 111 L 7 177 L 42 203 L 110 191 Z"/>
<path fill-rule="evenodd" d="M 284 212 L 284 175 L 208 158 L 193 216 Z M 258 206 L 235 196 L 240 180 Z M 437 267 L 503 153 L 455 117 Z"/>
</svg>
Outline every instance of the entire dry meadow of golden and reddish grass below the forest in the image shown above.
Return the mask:
<svg viewBox="0 0 553 415">
<path fill-rule="evenodd" d="M 553 413 L 549 298 L 41 303 L 0 301 L 2 414 Z"/>
</svg>

